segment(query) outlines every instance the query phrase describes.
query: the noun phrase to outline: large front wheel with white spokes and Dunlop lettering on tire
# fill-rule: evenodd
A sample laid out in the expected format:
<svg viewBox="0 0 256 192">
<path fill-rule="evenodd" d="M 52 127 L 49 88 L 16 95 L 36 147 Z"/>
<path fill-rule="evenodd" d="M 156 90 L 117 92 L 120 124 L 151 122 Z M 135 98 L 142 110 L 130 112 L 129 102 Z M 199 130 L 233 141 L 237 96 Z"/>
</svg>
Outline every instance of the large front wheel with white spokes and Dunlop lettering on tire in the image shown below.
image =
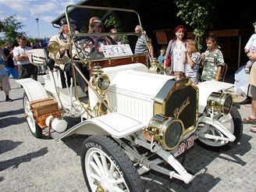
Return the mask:
<svg viewBox="0 0 256 192">
<path fill-rule="evenodd" d="M 101 135 L 88 137 L 84 140 L 80 158 L 84 180 L 89 191 L 116 191 L 113 190 L 115 187 L 130 192 L 145 191 L 142 180 L 130 158 L 111 138 Z M 97 172 L 92 165 L 97 166 L 100 171 Z M 113 167 L 112 171 L 109 169 L 110 166 Z M 116 180 L 122 182 L 116 184 L 114 183 Z"/>
</svg>

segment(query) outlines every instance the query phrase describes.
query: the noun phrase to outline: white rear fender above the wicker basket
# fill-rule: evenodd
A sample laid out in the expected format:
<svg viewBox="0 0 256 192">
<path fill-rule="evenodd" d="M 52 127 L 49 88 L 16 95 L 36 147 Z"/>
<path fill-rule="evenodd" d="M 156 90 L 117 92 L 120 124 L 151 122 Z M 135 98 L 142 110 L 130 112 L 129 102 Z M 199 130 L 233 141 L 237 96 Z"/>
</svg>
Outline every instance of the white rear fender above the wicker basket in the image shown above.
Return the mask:
<svg viewBox="0 0 256 192">
<path fill-rule="evenodd" d="M 37 80 L 26 78 L 16 80 L 16 82 L 22 85 L 29 101 L 48 98 L 48 94 L 44 90 L 44 87 Z"/>
</svg>

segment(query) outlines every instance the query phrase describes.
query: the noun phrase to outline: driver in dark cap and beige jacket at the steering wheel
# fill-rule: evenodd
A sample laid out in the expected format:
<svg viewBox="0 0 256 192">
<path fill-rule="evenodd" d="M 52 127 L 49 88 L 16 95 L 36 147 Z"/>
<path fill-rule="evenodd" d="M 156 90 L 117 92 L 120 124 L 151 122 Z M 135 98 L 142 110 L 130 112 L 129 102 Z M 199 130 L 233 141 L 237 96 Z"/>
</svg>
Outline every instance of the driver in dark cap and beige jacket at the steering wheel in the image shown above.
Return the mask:
<svg viewBox="0 0 256 192">
<path fill-rule="evenodd" d="M 69 18 L 69 24 L 71 27 L 71 30 L 73 33 L 78 33 L 76 31 L 76 20 L 72 20 Z M 70 52 L 72 50 L 69 50 L 69 27 L 66 18 L 62 18 L 62 20 L 59 21 L 59 34 L 56 34 L 55 36 L 50 38 L 51 41 L 57 41 L 61 48 L 59 49 L 59 52 L 57 53 L 49 53 L 49 57 L 55 60 L 55 68 L 61 69 L 61 79 L 62 79 L 62 87 L 66 87 L 65 80 L 64 80 L 64 73 L 62 71 L 66 72 L 67 81 L 70 85 L 70 78 L 72 77 L 72 65 L 71 65 L 71 59 L 70 59 Z M 80 68 L 80 70 L 84 73 L 84 76 L 87 78 L 87 80 L 90 79 L 88 69 L 84 67 L 80 62 L 75 62 L 76 66 Z M 76 74 L 76 81 L 80 85 L 80 87 L 86 92 L 87 91 L 87 83 L 84 81 L 83 77 L 80 76 L 80 73 L 75 72 Z"/>
</svg>

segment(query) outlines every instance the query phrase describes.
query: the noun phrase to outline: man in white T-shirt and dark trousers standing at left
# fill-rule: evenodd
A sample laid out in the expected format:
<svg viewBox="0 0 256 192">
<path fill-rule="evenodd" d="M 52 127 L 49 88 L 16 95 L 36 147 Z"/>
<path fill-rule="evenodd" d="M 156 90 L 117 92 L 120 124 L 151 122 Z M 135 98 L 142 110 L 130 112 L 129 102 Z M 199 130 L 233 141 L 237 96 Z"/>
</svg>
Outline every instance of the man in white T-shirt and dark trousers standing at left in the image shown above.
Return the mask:
<svg viewBox="0 0 256 192">
<path fill-rule="evenodd" d="M 20 46 L 14 48 L 12 52 L 18 66 L 20 66 L 20 79 L 31 77 L 32 79 L 37 80 L 37 66 L 30 63 L 27 56 L 27 51 L 31 50 L 30 47 L 27 47 L 27 38 L 20 35 L 17 37 L 17 41 Z"/>
</svg>

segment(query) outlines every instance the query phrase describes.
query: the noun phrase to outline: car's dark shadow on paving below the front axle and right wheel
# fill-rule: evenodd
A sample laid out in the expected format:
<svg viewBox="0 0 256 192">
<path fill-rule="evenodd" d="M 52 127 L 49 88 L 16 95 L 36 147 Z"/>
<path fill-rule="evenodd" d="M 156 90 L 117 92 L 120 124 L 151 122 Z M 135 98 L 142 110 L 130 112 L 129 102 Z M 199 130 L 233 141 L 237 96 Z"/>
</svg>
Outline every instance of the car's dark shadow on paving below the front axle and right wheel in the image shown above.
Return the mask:
<svg viewBox="0 0 256 192">
<path fill-rule="evenodd" d="M 246 165 L 246 162 L 239 156 L 246 155 L 251 150 L 249 140 L 251 140 L 251 136 L 243 134 L 238 144 L 234 145 L 229 151 L 222 152 L 209 151 L 198 144 L 194 144 L 194 147 L 187 151 L 187 158 L 184 162 L 187 172 L 195 176 L 191 183 L 186 184 L 181 180 L 170 179 L 169 176 L 150 171 L 142 175 L 144 185 L 148 191 L 209 191 L 221 179 L 209 174 L 211 171 L 208 171 L 207 166 L 215 161 L 216 158 L 219 158 L 219 163 L 220 161 L 226 161 L 237 163 L 241 166 Z M 181 159 L 178 160 L 181 162 Z"/>
</svg>

